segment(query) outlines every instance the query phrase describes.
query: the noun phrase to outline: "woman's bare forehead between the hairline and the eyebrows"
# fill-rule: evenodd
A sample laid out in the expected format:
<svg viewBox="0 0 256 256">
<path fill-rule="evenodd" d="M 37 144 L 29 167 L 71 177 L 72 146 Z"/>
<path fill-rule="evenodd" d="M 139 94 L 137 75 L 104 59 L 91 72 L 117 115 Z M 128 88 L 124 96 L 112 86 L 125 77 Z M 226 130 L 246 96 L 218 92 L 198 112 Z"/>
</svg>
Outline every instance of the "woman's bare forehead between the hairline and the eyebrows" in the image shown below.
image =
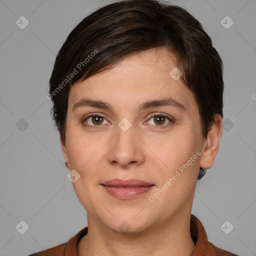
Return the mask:
<svg viewBox="0 0 256 256">
<path fill-rule="evenodd" d="M 180 78 L 173 76 L 175 71 L 176 57 L 165 48 L 130 55 L 114 67 L 74 83 L 69 92 L 68 108 L 85 96 L 107 101 L 122 110 L 168 96 L 182 102 L 187 109 L 196 106 L 193 93 Z"/>
</svg>

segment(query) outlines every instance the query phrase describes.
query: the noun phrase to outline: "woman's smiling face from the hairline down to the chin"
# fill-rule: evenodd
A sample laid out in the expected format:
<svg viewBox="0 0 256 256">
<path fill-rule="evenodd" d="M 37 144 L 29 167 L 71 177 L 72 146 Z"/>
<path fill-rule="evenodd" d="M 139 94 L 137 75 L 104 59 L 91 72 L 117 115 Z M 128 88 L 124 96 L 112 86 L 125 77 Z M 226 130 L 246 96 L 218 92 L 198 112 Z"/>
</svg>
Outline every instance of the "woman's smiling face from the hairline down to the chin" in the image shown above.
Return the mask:
<svg viewBox="0 0 256 256">
<path fill-rule="evenodd" d="M 88 223 L 143 231 L 190 214 L 207 140 L 192 92 L 169 74 L 174 67 L 174 55 L 150 49 L 71 87 L 61 145 Z"/>
</svg>

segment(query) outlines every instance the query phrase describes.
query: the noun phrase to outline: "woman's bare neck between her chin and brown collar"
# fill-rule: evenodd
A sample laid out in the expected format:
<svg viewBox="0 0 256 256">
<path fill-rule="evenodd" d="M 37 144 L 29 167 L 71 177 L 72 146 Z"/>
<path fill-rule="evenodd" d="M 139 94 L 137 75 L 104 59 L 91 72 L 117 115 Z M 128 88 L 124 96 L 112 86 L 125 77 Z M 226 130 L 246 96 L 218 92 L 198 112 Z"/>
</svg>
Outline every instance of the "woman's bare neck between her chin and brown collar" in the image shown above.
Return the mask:
<svg viewBox="0 0 256 256">
<path fill-rule="evenodd" d="M 88 233 L 78 243 L 78 256 L 190 256 L 194 249 L 190 213 L 178 213 L 141 232 L 126 234 L 108 229 L 89 214 L 87 217 Z"/>
</svg>

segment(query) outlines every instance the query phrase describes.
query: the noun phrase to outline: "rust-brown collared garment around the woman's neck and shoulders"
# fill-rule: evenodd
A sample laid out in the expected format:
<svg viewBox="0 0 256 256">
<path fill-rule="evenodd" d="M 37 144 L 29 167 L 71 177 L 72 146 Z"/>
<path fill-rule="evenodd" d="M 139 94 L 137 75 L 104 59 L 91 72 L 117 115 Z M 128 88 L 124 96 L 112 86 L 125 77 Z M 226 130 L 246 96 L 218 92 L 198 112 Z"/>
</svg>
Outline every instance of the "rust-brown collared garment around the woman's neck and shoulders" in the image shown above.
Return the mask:
<svg viewBox="0 0 256 256">
<path fill-rule="evenodd" d="M 28 256 L 77 256 L 77 243 L 82 236 L 87 234 L 87 230 L 88 227 L 86 226 L 71 237 L 68 242 Z M 195 243 L 191 256 L 238 256 L 226 250 L 222 250 L 209 242 L 202 223 L 193 214 L 191 214 L 190 218 L 190 233 Z"/>
</svg>

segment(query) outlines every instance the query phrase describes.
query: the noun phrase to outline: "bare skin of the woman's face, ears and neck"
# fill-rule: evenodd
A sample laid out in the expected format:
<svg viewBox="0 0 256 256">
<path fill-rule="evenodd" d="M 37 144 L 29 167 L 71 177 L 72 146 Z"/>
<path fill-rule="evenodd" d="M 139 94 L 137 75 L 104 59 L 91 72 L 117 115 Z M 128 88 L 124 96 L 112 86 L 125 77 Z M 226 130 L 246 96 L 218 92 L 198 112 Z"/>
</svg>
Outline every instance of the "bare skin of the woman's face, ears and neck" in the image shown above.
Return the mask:
<svg viewBox="0 0 256 256">
<path fill-rule="evenodd" d="M 88 233 L 78 243 L 79 256 L 192 254 L 189 223 L 193 192 L 199 167 L 208 169 L 214 162 L 222 119 L 216 114 L 207 137 L 202 136 L 193 93 L 181 79 L 169 75 L 175 60 L 165 48 L 153 48 L 79 80 L 70 89 L 61 148 L 67 167 L 80 175 L 72 184 L 87 211 Z M 103 100 L 113 111 L 91 106 L 72 111 L 82 97 Z M 175 106 L 137 111 L 144 101 L 166 97 L 182 103 L 185 111 Z M 105 119 L 97 124 L 95 117 L 88 117 L 84 121 L 88 126 L 84 126 L 82 117 L 90 113 Z M 163 117 L 158 124 L 150 114 L 159 113 L 175 120 Z M 126 131 L 118 126 L 123 118 L 131 124 Z M 197 151 L 200 156 L 151 202 L 149 196 Z M 113 178 L 135 178 L 154 186 L 145 194 L 123 200 L 109 195 L 100 185 Z M 123 221 L 129 226 L 126 233 L 119 229 Z"/>
</svg>

